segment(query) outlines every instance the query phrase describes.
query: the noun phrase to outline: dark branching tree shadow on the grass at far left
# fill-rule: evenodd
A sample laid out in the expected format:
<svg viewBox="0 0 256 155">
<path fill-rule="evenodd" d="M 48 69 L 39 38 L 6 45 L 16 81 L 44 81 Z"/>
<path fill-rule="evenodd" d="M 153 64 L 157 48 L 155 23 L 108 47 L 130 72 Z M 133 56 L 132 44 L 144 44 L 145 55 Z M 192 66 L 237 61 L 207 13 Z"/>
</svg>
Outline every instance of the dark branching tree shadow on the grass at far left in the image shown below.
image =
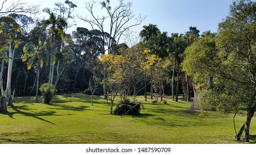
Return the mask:
<svg viewBox="0 0 256 155">
<path fill-rule="evenodd" d="M 44 118 L 40 118 L 40 116 L 52 116 L 52 115 L 55 115 L 55 113 L 56 113 L 55 111 L 40 111 L 40 112 L 30 111 L 30 112 L 25 112 L 25 110 L 29 111 L 29 109 L 27 108 L 26 105 L 23 105 L 23 106 L 12 106 L 12 109 L 15 112 L 6 112 L 5 113 L 10 118 L 15 119 L 13 117 L 14 114 L 21 114 L 21 115 L 24 115 L 24 116 L 33 117 L 33 118 L 36 118 L 38 120 L 45 121 L 45 122 L 48 122 L 48 123 L 51 123 L 51 124 L 55 125 L 55 123 L 53 123 L 53 122 L 45 120 Z"/>
</svg>

